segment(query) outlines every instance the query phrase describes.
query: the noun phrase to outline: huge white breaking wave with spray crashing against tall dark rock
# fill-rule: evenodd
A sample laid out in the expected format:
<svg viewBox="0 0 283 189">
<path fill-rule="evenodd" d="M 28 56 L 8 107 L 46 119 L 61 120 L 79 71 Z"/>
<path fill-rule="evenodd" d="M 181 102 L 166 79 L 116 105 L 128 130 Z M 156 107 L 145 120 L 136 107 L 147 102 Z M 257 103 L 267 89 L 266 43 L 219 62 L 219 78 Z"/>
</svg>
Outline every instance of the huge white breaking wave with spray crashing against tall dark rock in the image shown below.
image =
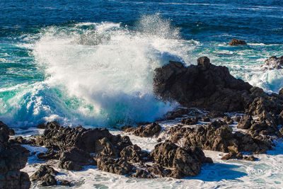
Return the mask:
<svg viewBox="0 0 283 189">
<path fill-rule="evenodd" d="M 194 48 L 178 34 L 158 14 L 141 16 L 131 30 L 109 22 L 43 28 L 29 47 L 45 80 L 6 101 L 3 118 L 14 127 L 52 120 L 102 127 L 161 118 L 174 105 L 154 96 L 154 69 L 169 60 L 189 64 L 187 51 Z"/>
</svg>

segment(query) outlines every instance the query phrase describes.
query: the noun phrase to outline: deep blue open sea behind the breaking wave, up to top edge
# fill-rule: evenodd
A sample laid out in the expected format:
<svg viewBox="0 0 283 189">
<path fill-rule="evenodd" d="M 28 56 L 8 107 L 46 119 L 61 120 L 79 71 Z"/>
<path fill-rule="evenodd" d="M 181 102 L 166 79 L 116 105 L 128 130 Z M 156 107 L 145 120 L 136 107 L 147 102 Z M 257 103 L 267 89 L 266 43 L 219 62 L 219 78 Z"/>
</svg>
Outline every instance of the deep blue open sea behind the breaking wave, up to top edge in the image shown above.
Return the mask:
<svg viewBox="0 0 283 189">
<path fill-rule="evenodd" d="M 282 1 L 6 1 L 0 2 L 0 36 L 36 33 L 47 25 L 122 22 L 161 13 L 186 40 L 283 42 Z"/>
</svg>

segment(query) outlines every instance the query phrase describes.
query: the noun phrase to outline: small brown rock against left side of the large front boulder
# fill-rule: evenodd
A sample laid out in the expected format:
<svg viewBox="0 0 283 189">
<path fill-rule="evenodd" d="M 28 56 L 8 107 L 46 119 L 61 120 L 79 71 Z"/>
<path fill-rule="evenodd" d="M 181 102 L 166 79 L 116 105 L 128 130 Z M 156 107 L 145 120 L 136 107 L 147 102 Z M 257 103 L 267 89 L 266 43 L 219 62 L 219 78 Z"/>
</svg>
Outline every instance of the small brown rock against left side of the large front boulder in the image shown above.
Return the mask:
<svg viewBox="0 0 283 189">
<path fill-rule="evenodd" d="M 148 153 L 146 151 L 141 151 L 141 148 L 136 144 L 125 147 L 120 152 L 121 159 L 129 161 L 132 163 L 141 163 L 147 158 Z"/>
</svg>

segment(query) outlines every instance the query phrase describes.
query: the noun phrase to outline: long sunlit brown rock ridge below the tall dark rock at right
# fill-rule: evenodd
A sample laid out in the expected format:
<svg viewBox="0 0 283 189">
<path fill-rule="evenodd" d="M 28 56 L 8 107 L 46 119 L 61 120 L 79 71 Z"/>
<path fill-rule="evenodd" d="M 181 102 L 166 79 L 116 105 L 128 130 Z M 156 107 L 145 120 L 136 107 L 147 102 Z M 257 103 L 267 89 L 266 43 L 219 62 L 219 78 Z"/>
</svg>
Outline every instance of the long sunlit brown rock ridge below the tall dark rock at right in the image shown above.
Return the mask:
<svg viewBox="0 0 283 189">
<path fill-rule="evenodd" d="M 274 143 L 268 136 L 256 132 L 232 132 L 226 122 L 214 121 L 197 128 L 172 127 L 169 131 L 171 141 L 183 138 L 190 147 L 222 152 L 250 151 L 258 154 L 272 149 Z"/>
</svg>

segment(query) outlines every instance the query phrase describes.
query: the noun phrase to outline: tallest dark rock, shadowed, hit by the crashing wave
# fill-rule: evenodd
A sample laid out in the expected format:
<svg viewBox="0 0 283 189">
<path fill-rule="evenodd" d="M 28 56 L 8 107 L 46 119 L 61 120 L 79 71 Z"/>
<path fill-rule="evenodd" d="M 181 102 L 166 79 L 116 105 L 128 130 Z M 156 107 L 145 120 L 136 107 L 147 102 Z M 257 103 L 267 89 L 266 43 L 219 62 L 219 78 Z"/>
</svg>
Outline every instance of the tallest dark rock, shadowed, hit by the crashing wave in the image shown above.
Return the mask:
<svg viewBox="0 0 283 189">
<path fill-rule="evenodd" d="M 231 76 L 227 67 L 210 64 L 207 57 L 198 59 L 197 66 L 169 62 L 154 73 L 155 95 L 163 101 L 177 101 L 187 108 L 241 111 L 250 88 L 250 84 Z"/>
</svg>

